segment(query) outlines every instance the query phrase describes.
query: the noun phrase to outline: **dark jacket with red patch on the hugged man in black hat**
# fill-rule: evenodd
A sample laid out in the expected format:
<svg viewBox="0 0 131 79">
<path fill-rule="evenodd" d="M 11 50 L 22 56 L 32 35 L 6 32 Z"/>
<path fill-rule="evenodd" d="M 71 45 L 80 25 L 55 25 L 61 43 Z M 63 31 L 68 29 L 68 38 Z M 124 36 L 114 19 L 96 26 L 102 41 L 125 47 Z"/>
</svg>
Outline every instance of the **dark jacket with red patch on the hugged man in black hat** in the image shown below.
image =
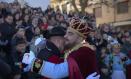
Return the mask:
<svg viewBox="0 0 131 79">
<path fill-rule="evenodd" d="M 60 56 L 61 52 L 59 49 L 53 43 L 47 41 L 45 48 L 38 53 L 37 58 L 52 63 L 60 63 L 63 61 Z"/>
</svg>

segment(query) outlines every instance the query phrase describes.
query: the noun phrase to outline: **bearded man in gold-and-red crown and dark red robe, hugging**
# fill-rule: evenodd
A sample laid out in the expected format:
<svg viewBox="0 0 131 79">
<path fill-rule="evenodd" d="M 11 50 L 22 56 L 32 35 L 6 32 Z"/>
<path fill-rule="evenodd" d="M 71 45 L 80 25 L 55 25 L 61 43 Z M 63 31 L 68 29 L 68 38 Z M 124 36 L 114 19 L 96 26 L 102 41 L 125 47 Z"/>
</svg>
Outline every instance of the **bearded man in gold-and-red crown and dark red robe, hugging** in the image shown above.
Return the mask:
<svg viewBox="0 0 131 79">
<path fill-rule="evenodd" d="M 90 31 L 82 20 L 73 18 L 65 35 L 68 48 L 65 62 L 53 64 L 36 58 L 31 71 L 53 79 L 99 79 L 100 76 L 93 73 L 98 71 L 95 52 L 83 42 Z"/>
</svg>

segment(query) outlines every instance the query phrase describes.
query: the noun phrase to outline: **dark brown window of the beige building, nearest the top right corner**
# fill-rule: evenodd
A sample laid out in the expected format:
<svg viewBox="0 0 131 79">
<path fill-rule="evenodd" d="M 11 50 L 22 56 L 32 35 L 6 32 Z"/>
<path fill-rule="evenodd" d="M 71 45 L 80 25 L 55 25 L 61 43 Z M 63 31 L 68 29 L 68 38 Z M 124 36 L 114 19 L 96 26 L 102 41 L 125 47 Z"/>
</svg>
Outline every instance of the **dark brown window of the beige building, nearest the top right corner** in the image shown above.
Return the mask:
<svg viewBox="0 0 131 79">
<path fill-rule="evenodd" d="M 117 4 L 117 13 L 128 13 L 128 1 L 125 2 L 119 2 Z"/>
</svg>

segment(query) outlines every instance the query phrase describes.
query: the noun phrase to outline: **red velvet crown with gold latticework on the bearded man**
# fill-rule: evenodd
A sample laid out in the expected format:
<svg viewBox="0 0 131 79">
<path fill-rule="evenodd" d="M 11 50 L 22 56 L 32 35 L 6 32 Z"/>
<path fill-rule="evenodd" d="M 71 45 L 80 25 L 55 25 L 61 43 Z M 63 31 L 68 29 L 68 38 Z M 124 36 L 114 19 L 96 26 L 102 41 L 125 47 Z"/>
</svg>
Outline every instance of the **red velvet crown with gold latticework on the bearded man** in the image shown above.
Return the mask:
<svg viewBox="0 0 131 79">
<path fill-rule="evenodd" d="M 69 28 L 84 38 L 86 38 L 92 30 L 84 19 L 79 18 L 72 18 L 69 23 Z"/>
</svg>

